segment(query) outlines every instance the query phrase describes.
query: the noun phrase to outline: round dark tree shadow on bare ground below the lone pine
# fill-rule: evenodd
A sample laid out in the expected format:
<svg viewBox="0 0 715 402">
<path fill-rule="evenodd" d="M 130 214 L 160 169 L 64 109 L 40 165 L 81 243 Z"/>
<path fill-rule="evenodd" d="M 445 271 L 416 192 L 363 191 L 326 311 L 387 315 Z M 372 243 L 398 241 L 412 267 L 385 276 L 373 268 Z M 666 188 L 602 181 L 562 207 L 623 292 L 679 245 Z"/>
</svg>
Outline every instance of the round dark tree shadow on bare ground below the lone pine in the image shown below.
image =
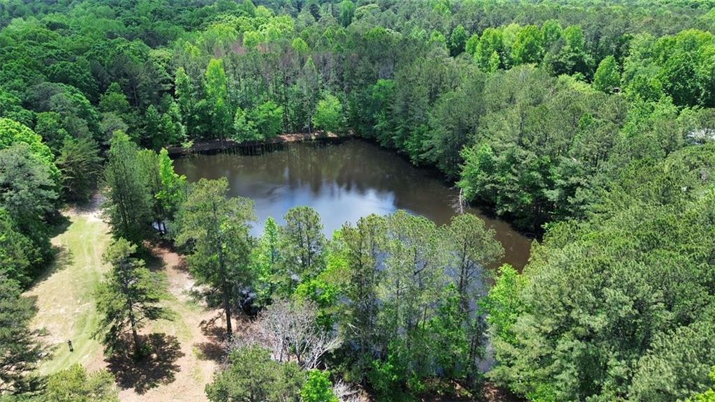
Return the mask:
<svg viewBox="0 0 715 402">
<path fill-rule="evenodd" d="M 128 335 L 119 343 L 112 356 L 106 359 L 108 369 L 122 389 L 134 388 L 142 395 L 149 389 L 172 383 L 179 371 L 177 359 L 184 356 L 179 340 L 173 335 L 152 333 L 141 335 L 149 354 L 134 358 L 134 345 Z"/>
</svg>

